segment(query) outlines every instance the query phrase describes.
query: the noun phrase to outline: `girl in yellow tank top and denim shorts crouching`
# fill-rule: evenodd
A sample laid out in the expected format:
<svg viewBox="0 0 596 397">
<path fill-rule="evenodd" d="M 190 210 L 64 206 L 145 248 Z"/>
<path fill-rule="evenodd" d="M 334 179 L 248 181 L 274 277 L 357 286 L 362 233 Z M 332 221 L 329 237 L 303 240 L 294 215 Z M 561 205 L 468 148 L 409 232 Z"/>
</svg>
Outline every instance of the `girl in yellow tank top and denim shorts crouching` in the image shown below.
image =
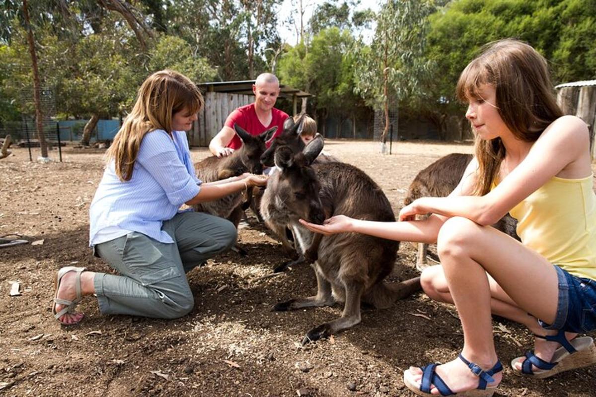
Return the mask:
<svg viewBox="0 0 596 397">
<path fill-rule="evenodd" d="M 533 351 L 511 361 L 517 374 L 545 378 L 596 362 L 596 196 L 589 133 L 557 107 L 547 62 L 532 47 L 501 40 L 470 62 L 457 86 L 468 102 L 476 156 L 446 198 L 420 198 L 399 222 L 339 215 L 323 234 L 359 232 L 437 243 L 440 265 L 421 283 L 433 299 L 454 303 L 464 346 L 443 365 L 410 367 L 404 382 L 418 395 L 492 396 L 501 382 L 491 313 L 524 324 Z M 518 220 L 522 243 L 493 227 Z M 414 216 L 432 214 L 427 220 Z"/>
</svg>

